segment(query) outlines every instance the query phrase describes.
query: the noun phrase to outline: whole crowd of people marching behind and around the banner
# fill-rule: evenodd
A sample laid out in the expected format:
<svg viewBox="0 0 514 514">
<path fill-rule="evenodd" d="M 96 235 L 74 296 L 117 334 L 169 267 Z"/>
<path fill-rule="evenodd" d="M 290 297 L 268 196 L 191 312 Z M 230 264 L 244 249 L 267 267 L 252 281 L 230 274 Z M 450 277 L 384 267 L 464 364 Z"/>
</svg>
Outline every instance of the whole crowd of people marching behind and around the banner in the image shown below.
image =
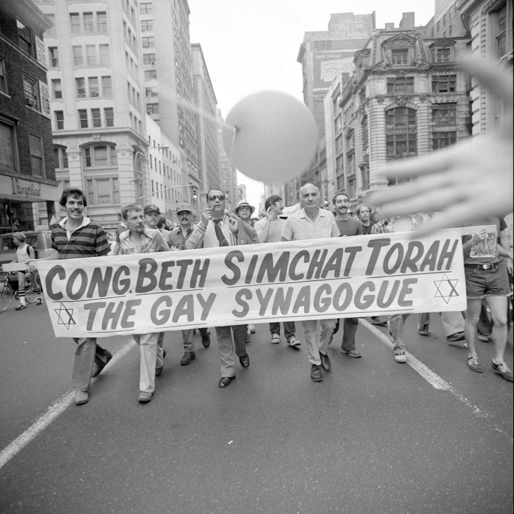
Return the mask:
<svg viewBox="0 0 514 514">
<path fill-rule="evenodd" d="M 127 205 L 122 209 L 123 222 L 118 227 L 114 254 L 136 254 L 162 251 L 193 250 L 220 246 L 241 246 L 254 243 L 276 243 L 280 241 L 314 240 L 326 237 L 344 237 L 361 234 L 381 234 L 404 231 L 405 220 L 384 218 L 378 209 L 361 204 L 356 216 L 351 212 L 350 198 L 344 192 L 337 192 L 333 198 L 333 211 L 320 208 L 320 192 L 313 184 L 306 184 L 300 190 L 301 209 L 283 219 L 282 198 L 272 195 L 265 201 L 265 212 L 260 219 L 252 218 L 254 208 L 246 200 L 241 200 L 233 213 L 226 210 L 225 193 L 218 189 L 207 193 L 207 207 L 201 212 L 198 223 L 193 223 L 193 211 L 189 204 L 177 207 L 178 226 L 172 228 L 161 219 L 159 208 L 147 205 Z M 52 253 L 44 260 L 74 259 L 107 255 L 111 250 L 100 223 L 84 215 L 87 200 L 80 189 L 66 189 L 60 200 L 66 217 L 51 225 Z M 431 213 L 411 216 L 410 229 L 429 223 Z M 401 222 L 401 223 L 400 223 Z M 507 344 L 507 331 L 511 324 L 509 297 L 512 285 L 512 215 L 506 221 L 498 218 L 476 219 L 469 226 L 495 225 L 497 235 L 491 242 L 491 235 L 485 230 L 472 236 L 463 236 L 464 270 L 467 290 L 467 310 L 440 313 L 449 344 L 468 348 L 468 367 L 475 372 L 483 372 L 478 359 L 476 340 L 491 341 L 494 357 L 491 367 L 504 379 L 512 381 L 512 372 L 504 361 Z M 171 230 L 170 230 L 171 229 Z M 27 263 L 27 273 L 34 273 L 33 251 L 26 248 L 23 233 L 15 234 L 19 251 L 14 262 Z M 484 246 L 485 245 L 485 246 Z M 488 251 L 477 252 L 486 247 Z M 20 272 L 20 287 L 23 290 L 25 273 Z M 41 290 L 38 304 L 41 304 Z M 20 295 L 20 310 L 25 305 Z M 464 314 L 464 315 L 463 315 Z M 432 314 L 435 316 L 436 314 Z M 389 317 L 374 317 L 372 323 L 387 325 L 394 343 L 394 359 L 403 363 L 406 358 L 406 334 L 404 332 L 406 314 Z M 429 334 L 430 314 L 418 315 L 417 329 L 420 335 Z M 307 357 L 310 363 L 310 378 L 323 379 L 323 371 L 331 369 L 327 353 L 328 345 L 341 329 L 341 352 L 359 358 L 356 350 L 355 334 L 358 318 L 343 318 L 340 327 L 337 319 L 301 321 Z M 218 386 L 227 387 L 235 378 L 235 356 L 243 368 L 248 368 L 250 359 L 247 342 L 253 326 L 245 324 L 214 327 L 221 359 L 221 379 Z M 287 344 L 298 350 L 301 346 L 296 337 L 295 322 L 283 322 Z M 270 341 L 280 343 L 280 322 L 269 324 Z M 188 365 L 195 359 L 194 329 L 182 330 L 184 354 L 181 365 Z M 210 331 L 199 330 L 201 343 L 210 345 Z M 155 377 L 163 369 L 166 350 L 163 348 L 164 333 L 134 335 L 140 347 L 139 401 L 148 402 L 155 391 Z M 73 387 L 76 390 L 75 403 L 81 405 L 89 398 L 91 377 L 97 376 L 112 358 L 112 354 L 102 348 L 96 338 L 74 338 L 77 343 Z"/>
</svg>

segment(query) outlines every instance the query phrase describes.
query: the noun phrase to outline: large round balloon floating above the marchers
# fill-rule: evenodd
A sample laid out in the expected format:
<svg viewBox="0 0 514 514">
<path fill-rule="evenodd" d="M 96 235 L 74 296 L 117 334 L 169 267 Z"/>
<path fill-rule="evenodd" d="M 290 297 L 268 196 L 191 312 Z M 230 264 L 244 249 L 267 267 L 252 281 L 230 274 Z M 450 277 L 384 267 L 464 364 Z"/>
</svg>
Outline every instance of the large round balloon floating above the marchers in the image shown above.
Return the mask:
<svg viewBox="0 0 514 514">
<path fill-rule="evenodd" d="M 243 98 L 232 107 L 226 124 L 223 143 L 232 166 L 263 182 L 284 182 L 300 175 L 318 144 L 309 109 L 279 91 Z"/>
</svg>

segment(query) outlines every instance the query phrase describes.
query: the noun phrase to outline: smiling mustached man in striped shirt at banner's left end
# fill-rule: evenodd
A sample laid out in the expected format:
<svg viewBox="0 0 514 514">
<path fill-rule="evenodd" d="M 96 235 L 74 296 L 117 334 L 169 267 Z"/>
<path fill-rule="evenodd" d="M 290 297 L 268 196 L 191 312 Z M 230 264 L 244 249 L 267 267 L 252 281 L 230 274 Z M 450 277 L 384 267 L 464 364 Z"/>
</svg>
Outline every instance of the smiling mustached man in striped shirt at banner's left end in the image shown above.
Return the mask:
<svg viewBox="0 0 514 514">
<path fill-rule="evenodd" d="M 111 248 L 102 225 L 84 216 L 84 209 L 87 206 L 84 193 L 77 188 L 65 189 L 59 203 L 66 210 L 67 216 L 60 222 L 50 225 L 53 251 L 39 260 L 80 259 L 107 255 Z M 73 340 L 77 343 L 77 349 L 72 383 L 76 390 L 75 403 L 82 405 L 89 399 L 91 377 L 100 374 L 111 360 L 112 354 L 97 344 L 96 337 L 74 337 Z"/>
</svg>

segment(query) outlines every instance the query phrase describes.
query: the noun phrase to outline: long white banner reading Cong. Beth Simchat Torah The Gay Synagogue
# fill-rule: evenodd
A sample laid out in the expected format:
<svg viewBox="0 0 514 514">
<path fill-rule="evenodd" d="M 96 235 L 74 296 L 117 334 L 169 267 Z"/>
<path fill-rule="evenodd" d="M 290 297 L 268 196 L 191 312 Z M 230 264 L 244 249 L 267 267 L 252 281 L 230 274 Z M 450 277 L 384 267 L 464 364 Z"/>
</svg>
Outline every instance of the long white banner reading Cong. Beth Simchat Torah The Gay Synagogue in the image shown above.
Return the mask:
<svg viewBox="0 0 514 514">
<path fill-rule="evenodd" d="M 461 232 L 40 261 L 58 337 L 465 310 Z"/>
</svg>

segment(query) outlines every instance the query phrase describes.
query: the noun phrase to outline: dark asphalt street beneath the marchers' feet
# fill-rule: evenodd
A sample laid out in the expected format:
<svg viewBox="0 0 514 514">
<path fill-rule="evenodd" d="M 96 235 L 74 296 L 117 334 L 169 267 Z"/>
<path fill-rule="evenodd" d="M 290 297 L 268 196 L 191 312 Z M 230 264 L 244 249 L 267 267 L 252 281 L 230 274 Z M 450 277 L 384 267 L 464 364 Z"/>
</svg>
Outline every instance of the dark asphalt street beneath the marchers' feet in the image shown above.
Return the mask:
<svg viewBox="0 0 514 514">
<path fill-rule="evenodd" d="M 299 351 L 283 337 L 271 344 L 268 326 L 256 325 L 250 367 L 237 363 L 226 389 L 217 387 L 214 330 L 207 349 L 196 335 L 188 366 L 181 334 L 169 332 L 146 405 L 137 401 L 137 346 L 106 338 L 118 358 L 89 402 L 38 430 L 69 400 L 74 343 L 54 338 L 45 306 L 11 305 L 0 314 L 0 512 L 511 513 L 512 383 L 490 369 L 490 343 L 479 343 L 484 373 L 473 373 L 466 349 L 447 344 L 440 316 L 429 337 L 414 318 L 413 365 L 396 363 L 361 323 L 363 357 L 341 354 L 337 334 L 332 371 L 319 383 L 309 378 L 301 323 Z M 12 444 L 30 431 L 28 444 Z"/>
</svg>

